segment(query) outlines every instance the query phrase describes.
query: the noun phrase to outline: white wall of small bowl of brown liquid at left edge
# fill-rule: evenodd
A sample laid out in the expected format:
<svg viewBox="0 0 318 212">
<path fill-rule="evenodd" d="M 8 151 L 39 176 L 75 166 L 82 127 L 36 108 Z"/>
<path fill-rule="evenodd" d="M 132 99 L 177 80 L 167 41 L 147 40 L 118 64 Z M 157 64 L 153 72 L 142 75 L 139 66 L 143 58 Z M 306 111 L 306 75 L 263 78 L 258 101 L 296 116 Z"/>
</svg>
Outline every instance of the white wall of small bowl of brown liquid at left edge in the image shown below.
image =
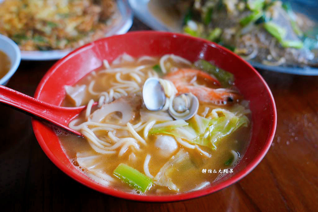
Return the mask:
<svg viewBox="0 0 318 212">
<path fill-rule="evenodd" d="M 21 51 L 16 43 L 8 37 L 0 34 L 0 51 L 3 51 L 11 61 L 11 67 L 9 72 L 0 79 L 0 85 L 6 85 L 9 79 L 20 65 Z"/>
</svg>

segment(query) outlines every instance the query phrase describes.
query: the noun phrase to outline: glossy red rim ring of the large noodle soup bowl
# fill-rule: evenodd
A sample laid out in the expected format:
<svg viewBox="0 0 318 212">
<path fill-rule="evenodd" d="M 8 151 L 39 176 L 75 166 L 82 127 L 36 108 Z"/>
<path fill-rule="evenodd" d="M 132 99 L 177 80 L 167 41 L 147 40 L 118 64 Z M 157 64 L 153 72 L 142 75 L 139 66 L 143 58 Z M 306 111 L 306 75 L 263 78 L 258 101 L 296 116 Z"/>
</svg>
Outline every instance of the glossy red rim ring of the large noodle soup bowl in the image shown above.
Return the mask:
<svg viewBox="0 0 318 212">
<path fill-rule="evenodd" d="M 197 198 L 197 197 L 201 197 L 204 195 L 208 195 L 211 194 L 213 192 L 216 192 L 218 190 L 221 190 L 223 188 L 226 188 L 232 184 L 234 184 L 235 182 L 239 181 L 240 179 L 242 179 L 243 177 L 245 177 L 247 174 L 249 174 L 258 164 L 259 162 L 264 158 L 265 154 L 267 153 L 268 149 L 270 148 L 274 135 L 275 135 L 275 131 L 276 131 L 276 125 L 277 125 L 277 112 L 276 112 L 276 106 L 275 106 L 275 101 L 273 98 L 273 94 L 269 88 L 269 86 L 267 85 L 267 83 L 265 82 L 265 80 L 262 78 L 262 76 L 259 74 L 259 72 L 257 72 L 252 65 L 250 65 L 248 62 L 246 62 L 245 60 L 243 60 L 242 58 L 240 58 L 238 55 L 234 54 L 232 51 L 218 45 L 215 44 L 213 42 L 210 42 L 208 40 L 202 39 L 202 38 L 194 38 L 188 35 L 184 35 L 181 33 L 173 33 L 173 32 L 162 32 L 162 31 L 133 31 L 133 32 L 128 32 L 126 34 L 123 35 L 115 35 L 115 36 L 111 36 L 108 38 L 102 38 L 100 40 L 107 40 L 109 38 L 112 37 L 125 37 L 125 36 L 134 36 L 134 35 L 139 35 L 139 34 L 147 34 L 149 36 L 153 36 L 153 35 L 162 35 L 162 36 L 171 36 L 171 37 L 175 37 L 175 36 L 179 36 L 179 37 L 186 37 L 186 38 L 190 38 L 190 39 L 197 39 L 197 40 L 201 40 L 205 43 L 208 44 L 213 44 L 215 45 L 217 48 L 222 49 L 222 51 L 226 51 L 227 53 L 230 53 L 232 55 L 232 57 L 236 57 L 239 58 L 239 60 L 243 61 L 256 75 L 257 77 L 260 79 L 260 81 L 263 83 L 264 88 L 266 90 L 266 92 L 269 93 L 269 100 L 270 100 L 270 107 L 271 107 L 271 111 L 273 114 L 271 114 L 273 116 L 272 120 L 272 126 L 269 129 L 269 134 L 267 136 L 266 142 L 264 143 L 261 151 L 257 154 L 257 156 L 242 170 L 240 170 L 237 174 L 235 174 L 233 177 L 222 181 L 220 183 L 218 183 L 217 185 L 213 186 L 213 187 L 207 187 L 207 188 L 203 188 L 197 191 L 192 191 L 192 192 L 188 192 L 188 193 L 182 193 L 182 194 L 175 194 L 175 195 L 137 195 L 137 194 L 132 194 L 132 193 L 127 193 L 127 192 L 123 192 L 120 190 L 116 190 L 114 188 L 109 188 L 109 187 L 105 187 L 102 186 L 98 183 L 93 183 L 91 181 L 88 180 L 88 177 L 83 177 L 80 176 L 78 174 L 76 174 L 75 172 L 73 172 L 71 169 L 69 169 L 68 167 L 66 167 L 65 165 L 63 165 L 63 163 L 61 163 L 59 161 L 59 159 L 57 159 L 54 154 L 50 151 L 49 147 L 46 145 L 44 139 L 41 136 L 40 131 L 38 130 L 38 128 L 41 126 L 42 122 L 35 120 L 34 118 L 32 118 L 32 127 L 33 127 L 33 131 L 34 134 L 38 140 L 39 145 L 41 146 L 41 148 L 43 149 L 44 153 L 48 156 L 48 158 L 60 169 L 62 170 L 65 174 L 67 174 L 68 176 L 70 176 L 71 178 L 73 178 L 75 181 L 80 182 L 81 184 L 92 188 L 96 191 L 99 191 L 101 193 L 107 194 L 107 195 L 112 195 L 115 197 L 119 197 L 119 198 L 124 198 L 124 199 L 128 199 L 128 200 L 135 200 L 135 201 L 142 201 L 142 202 L 173 202 L 173 201 L 183 201 L 183 200 L 188 200 L 188 199 L 193 199 L 193 198 Z M 56 62 L 44 75 L 44 77 L 41 79 L 40 83 L 38 84 L 38 87 L 36 89 L 36 92 L 34 94 L 34 98 L 38 99 L 40 93 L 42 92 L 43 86 L 45 85 L 46 81 L 51 77 L 52 73 L 54 73 L 58 67 L 64 63 L 65 61 L 68 60 L 68 58 L 71 58 L 73 56 L 73 54 L 77 54 L 80 51 L 83 51 L 85 48 L 87 48 L 90 45 L 94 45 L 96 42 L 100 42 L 100 40 L 94 41 L 92 43 L 86 44 L 74 51 L 72 51 L 71 53 L 69 53 L 68 55 L 66 55 L 64 58 L 60 59 L 58 62 Z M 101 187 L 103 188 L 101 190 Z"/>
</svg>

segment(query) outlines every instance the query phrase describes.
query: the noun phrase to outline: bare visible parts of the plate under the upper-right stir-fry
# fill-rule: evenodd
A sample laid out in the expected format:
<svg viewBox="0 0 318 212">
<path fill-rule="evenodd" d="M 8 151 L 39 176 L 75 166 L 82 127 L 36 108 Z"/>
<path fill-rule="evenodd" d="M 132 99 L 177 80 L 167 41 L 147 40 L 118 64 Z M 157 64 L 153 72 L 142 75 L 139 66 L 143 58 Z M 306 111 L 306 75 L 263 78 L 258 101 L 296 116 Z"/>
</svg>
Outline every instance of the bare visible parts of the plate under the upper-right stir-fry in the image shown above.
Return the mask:
<svg viewBox="0 0 318 212">
<path fill-rule="evenodd" d="M 318 23 L 318 0 L 282 0 L 291 3 L 293 10 L 306 14 Z M 169 12 L 168 6 L 163 5 L 162 0 L 128 0 L 134 14 L 145 24 L 154 30 L 182 32 L 182 17 L 178 17 L 174 12 Z M 274 72 L 282 72 L 298 75 L 318 75 L 317 67 L 298 66 L 272 66 L 264 65 L 253 60 L 249 60 L 254 67 Z"/>
</svg>

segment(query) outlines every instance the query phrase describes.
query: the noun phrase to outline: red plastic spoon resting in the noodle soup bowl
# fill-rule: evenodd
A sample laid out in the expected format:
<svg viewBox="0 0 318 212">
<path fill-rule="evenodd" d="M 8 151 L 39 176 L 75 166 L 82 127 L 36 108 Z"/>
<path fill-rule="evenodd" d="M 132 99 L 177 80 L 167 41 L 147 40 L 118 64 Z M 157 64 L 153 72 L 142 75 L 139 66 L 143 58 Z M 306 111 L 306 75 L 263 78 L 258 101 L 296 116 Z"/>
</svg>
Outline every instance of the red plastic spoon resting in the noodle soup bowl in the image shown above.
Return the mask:
<svg viewBox="0 0 318 212">
<path fill-rule="evenodd" d="M 51 105 L 3 85 L 0 85 L 0 102 L 52 122 L 72 133 L 81 135 L 78 131 L 69 128 L 68 123 L 78 116 L 86 106 L 60 107 Z"/>
</svg>

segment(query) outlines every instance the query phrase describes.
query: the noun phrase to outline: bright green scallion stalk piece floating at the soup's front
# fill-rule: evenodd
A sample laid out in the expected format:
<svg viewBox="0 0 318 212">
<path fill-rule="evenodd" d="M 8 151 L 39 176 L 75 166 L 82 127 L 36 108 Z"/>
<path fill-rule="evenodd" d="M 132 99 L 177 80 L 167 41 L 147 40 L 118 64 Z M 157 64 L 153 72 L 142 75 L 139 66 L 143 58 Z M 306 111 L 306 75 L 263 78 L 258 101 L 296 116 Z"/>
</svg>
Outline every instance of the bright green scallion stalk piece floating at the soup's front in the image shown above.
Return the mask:
<svg viewBox="0 0 318 212">
<path fill-rule="evenodd" d="M 153 184 L 153 181 L 149 177 L 123 163 L 118 165 L 113 174 L 132 188 L 140 190 L 143 193 L 149 190 Z"/>
</svg>

